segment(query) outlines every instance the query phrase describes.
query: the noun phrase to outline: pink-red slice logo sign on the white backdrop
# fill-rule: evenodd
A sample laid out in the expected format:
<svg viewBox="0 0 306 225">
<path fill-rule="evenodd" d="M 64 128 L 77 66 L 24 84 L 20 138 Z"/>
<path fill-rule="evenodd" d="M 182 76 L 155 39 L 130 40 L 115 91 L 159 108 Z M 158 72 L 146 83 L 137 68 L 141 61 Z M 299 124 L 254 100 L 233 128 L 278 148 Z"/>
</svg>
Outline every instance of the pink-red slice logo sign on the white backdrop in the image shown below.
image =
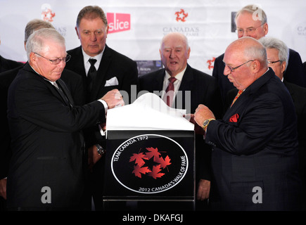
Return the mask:
<svg viewBox="0 0 306 225">
<path fill-rule="evenodd" d="M 131 30 L 131 14 L 126 13 L 107 13 L 108 33 L 122 32 Z"/>
</svg>

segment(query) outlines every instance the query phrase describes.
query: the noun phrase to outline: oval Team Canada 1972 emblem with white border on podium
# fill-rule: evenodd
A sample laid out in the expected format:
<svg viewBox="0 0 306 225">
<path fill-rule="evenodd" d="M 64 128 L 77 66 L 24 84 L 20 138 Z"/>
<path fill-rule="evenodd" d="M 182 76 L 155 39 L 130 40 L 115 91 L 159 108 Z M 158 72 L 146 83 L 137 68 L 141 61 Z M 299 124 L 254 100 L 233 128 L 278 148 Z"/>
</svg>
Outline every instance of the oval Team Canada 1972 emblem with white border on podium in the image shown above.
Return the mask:
<svg viewBox="0 0 306 225">
<path fill-rule="evenodd" d="M 173 188 L 188 169 L 185 150 L 173 139 L 158 134 L 134 136 L 113 153 L 115 179 L 136 193 L 161 193 Z"/>
</svg>

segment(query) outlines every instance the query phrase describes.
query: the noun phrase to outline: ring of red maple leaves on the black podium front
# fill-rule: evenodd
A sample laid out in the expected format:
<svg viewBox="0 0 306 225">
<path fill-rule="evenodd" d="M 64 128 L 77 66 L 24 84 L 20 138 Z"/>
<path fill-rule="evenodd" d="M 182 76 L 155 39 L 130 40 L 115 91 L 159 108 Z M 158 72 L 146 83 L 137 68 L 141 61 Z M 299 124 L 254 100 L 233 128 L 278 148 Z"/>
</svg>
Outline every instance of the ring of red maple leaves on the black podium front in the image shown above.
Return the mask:
<svg viewBox="0 0 306 225">
<path fill-rule="evenodd" d="M 129 158 L 129 162 L 134 162 L 134 170 L 132 171 L 132 174 L 139 178 L 141 178 L 141 174 L 147 174 L 148 176 L 153 177 L 153 179 L 157 179 L 164 176 L 165 173 L 161 171 L 163 169 L 166 169 L 167 166 L 171 165 L 171 159 L 169 155 L 166 155 L 165 158 L 162 158 L 161 153 L 158 151 L 158 148 L 150 147 L 146 148 L 146 150 L 146 153 L 133 153 L 133 155 Z M 153 165 L 152 169 L 148 166 L 144 166 L 146 165 L 145 160 L 151 160 L 152 158 L 153 162 L 155 162 L 157 165 Z"/>
</svg>

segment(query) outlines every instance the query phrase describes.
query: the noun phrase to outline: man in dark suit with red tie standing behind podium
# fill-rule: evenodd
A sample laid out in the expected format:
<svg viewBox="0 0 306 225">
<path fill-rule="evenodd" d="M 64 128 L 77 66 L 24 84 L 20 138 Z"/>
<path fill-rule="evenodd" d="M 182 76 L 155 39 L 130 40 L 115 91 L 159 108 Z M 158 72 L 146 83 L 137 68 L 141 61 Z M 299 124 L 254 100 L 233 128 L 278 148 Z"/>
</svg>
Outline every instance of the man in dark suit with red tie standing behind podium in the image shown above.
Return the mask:
<svg viewBox="0 0 306 225">
<path fill-rule="evenodd" d="M 215 78 L 191 68 L 187 60 L 190 47 L 184 34 L 170 33 L 162 39 L 160 57 L 164 69 L 139 77 L 138 92 L 165 92 L 170 77 L 175 77 L 173 103 L 170 107 L 186 109 L 193 113 L 200 103 L 210 105 L 217 117 L 222 114 L 221 96 Z M 178 92 L 177 92 L 178 91 Z M 165 98 L 167 94 L 160 96 Z M 172 100 L 172 99 L 171 99 Z M 210 147 L 203 140 L 203 133 L 198 134 L 196 127 L 196 173 L 197 198 L 207 200 L 210 192 Z M 203 150 L 204 149 L 204 150 Z M 199 202 L 198 202 L 199 203 Z M 198 205 L 198 204 L 197 204 Z M 200 205 L 198 205 L 200 206 Z M 199 207 L 197 207 L 197 210 Z"/>
</svg>

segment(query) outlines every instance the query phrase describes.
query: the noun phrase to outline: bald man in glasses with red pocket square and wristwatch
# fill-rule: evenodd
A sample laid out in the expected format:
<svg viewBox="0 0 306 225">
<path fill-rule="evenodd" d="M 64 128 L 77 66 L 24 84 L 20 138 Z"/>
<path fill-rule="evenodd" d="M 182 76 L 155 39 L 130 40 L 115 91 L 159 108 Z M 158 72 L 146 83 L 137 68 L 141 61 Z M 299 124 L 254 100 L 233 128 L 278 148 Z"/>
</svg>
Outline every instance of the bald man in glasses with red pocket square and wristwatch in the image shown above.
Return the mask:
<svg viewBox="0 0 306 225">
<path fill-rule="evenodd" d="M 231 43 L 224 63 L 224 73 L 242 94 L 222 120 L 205 105 L 195 113 L 213 146 L 213 209 L 299 210 L 297 119 L 290 94 L 252 37 Z"/>
</svg>

